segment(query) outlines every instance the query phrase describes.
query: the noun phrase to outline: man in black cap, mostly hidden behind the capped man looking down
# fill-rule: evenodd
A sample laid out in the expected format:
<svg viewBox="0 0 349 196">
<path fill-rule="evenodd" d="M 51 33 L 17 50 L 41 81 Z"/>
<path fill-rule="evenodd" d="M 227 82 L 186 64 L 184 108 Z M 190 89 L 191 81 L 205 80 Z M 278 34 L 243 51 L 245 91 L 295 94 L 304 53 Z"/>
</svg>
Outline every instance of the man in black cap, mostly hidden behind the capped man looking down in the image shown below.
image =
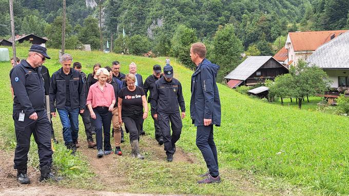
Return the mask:
<svg viewBox="0 0 349 196">
<path fill-rule="evenodd" d="M 159 66 L 159 64 L 156 64 L 153 66 L 153 74 L 148 76 L 147 79 L 145 79 L 144 84 L 143 84 L 143 90 L 145 93 L 145 97 L 147 97 L 147 93 L 149 91 L 148 103 L 150 103 L 150 100 L 151 100 L 151 92 L 154 88 L 154 84 L 161 77 L 162 77 L 161 66 Z M 158 119 L 155 119 L 153 115 L 154 114 L 151 114 L 151 117 L 154 120 L 155 139 L 158 141 L 159 145 L 162 145 L 164 143 L 164 139 L 162 137 L 160 124 L 159 124 Z"/>
</svg>

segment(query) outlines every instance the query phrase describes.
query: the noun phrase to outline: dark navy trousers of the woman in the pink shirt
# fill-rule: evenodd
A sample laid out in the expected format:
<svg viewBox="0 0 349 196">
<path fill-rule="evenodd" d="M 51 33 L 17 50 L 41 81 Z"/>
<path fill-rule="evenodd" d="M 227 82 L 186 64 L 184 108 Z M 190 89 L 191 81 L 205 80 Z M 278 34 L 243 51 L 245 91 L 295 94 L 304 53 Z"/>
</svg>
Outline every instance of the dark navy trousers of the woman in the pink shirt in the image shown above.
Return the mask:
<svg viewBox="0 0 349 196">
<path fill-rule="evenodd" d="M 96 127 L 96 143 L 97 149 L 103 149 L 102 143 L 104 144 L 104 150 L 111 150 L 110 145 L 110 124 L 111 124 L 111 112 L 108 111 L 108 107 L 95 107 L 93 112 L 96 115 L 96 119 L 93 120 L 93 124 Z M 104 134 L 104 142 L 102 137 L 102 126 Z"/>
</svg>

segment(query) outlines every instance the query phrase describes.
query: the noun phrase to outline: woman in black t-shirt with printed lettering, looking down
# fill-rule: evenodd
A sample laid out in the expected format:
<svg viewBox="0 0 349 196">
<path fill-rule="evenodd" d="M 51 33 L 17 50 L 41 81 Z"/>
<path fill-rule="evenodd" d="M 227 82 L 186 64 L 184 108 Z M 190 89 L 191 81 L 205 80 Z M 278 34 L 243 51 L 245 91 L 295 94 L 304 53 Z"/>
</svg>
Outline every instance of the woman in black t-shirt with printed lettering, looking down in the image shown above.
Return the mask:
<svg viewBox="0 0 349 196">
<path fill-rule="evenodd" d="M 134 85 L 133 74 L 127 74 L 125 81 L 127 86 L 120 90 L 118 98 L 119 122 L 120 125 L 124 122 L 130 133 L 132 157 L 144 159 L 139 150 L 139 138 L 143 120 L 148 117 L 148 103 L 143 89 Z"/>
</svg>

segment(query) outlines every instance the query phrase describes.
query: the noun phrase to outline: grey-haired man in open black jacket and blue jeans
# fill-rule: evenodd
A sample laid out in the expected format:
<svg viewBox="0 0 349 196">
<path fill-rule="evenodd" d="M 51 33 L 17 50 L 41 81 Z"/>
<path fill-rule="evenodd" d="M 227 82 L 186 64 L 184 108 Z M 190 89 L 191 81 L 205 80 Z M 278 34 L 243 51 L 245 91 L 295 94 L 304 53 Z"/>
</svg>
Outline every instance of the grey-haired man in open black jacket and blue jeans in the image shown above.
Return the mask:
<svg viewBox="0 0 349 196">
<path fill-rule="evenodd" d="M 73 58 L 64 54 L 60 58 L 62 68 L 52 74 L 50 85 L 50 109 L 53 117 L 57 112 L 63 125 L 63 139 L 68 149 L 75 154 L 79 147 L 79 113 L 85 111 L 86 97 L 80 72 L 71 68 Z"/>
</svg>

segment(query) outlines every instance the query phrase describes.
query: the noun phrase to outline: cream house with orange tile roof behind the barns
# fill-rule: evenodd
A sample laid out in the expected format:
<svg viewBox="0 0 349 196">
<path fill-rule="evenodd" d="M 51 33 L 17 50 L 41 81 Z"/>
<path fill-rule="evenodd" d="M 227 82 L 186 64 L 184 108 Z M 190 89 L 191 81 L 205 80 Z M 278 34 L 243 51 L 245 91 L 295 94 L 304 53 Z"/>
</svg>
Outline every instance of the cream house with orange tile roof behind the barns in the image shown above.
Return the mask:
<svg viewBox="0 0 349 196">
<path fill-rule="evenodd" d="M 274 58 L 286 65 L 296 65 L 298 59 L 306 60 L 324 43 L 348 30 L 289 32 L 285 47 Z M 287 58 L 286 58 L 287 50 Z M 287 63 L 285 63 L 287 61 Z"/>
</svg>

